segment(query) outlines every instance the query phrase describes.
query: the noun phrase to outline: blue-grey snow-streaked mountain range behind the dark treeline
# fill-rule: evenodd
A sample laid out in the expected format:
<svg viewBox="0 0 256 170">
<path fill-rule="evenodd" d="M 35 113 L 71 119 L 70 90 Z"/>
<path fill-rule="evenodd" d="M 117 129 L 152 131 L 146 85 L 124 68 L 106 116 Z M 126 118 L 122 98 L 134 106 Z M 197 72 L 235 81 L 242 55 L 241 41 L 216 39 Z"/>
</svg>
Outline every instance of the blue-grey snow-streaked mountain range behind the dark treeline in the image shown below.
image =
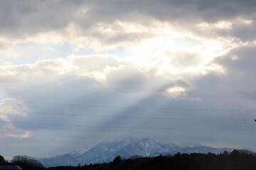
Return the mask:
<svg viewBox="0 0 256 170">
<path fill-rule="evenodd" d="M 61 166 L 78 164 L 95 164 L 111 162 L 114 157 L 120 155 L 127 159 L 130 157 L 156 157 L 162 155 L 173 155 L 180 153 L 205 153 L 220 154 L 224 151 L 232 152 L 230 148 L 213 147 L 178 147 L 175 144 L 161 144 L 148 138 L 127 137 L 124 140 L 114 140 L 112 142 L 100 142 L 95 147 L 85 153 L 70 152 L 57 157 L 38 159 L 44 166 Z"/>
</svg>

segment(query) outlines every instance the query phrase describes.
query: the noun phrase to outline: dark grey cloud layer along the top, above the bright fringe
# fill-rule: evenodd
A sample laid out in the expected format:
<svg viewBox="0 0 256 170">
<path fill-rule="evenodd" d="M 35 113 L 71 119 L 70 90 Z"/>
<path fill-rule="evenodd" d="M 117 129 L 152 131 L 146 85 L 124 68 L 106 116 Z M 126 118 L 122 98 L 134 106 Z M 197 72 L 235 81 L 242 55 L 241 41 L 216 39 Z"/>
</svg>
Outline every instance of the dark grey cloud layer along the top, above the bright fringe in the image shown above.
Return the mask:
<svg viewBox="0 0 256 170">
<path fill-rule="evenodd" d="M 0 30 L 2 36 L 18 38 L 63 30 L 70 23 L 86 32 L 96 23 L 125 20 L 146 24 L 149 18 L 193 26 L 198 22 L 215 22 L 238 16 L 250 18 L 255 7 L 255 1 L 229 0 L 1 1 Z M 234 33 L 239 35 L 241 32 Z"/>
</svg>

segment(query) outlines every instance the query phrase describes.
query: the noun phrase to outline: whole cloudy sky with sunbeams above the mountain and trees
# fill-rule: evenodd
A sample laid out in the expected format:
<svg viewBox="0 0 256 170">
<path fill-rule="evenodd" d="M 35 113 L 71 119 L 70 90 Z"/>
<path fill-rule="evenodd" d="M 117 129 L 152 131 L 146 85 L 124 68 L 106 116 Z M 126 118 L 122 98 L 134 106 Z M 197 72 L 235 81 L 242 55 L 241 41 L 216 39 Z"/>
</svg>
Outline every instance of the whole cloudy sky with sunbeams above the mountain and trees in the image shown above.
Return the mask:
<svg viewBox="0 0 256 170">
<path fill-rule="evenodd" d="M 256 152 L 256 1 L 0 1 L 0 154 L 122 137 Z"/>
</svg>

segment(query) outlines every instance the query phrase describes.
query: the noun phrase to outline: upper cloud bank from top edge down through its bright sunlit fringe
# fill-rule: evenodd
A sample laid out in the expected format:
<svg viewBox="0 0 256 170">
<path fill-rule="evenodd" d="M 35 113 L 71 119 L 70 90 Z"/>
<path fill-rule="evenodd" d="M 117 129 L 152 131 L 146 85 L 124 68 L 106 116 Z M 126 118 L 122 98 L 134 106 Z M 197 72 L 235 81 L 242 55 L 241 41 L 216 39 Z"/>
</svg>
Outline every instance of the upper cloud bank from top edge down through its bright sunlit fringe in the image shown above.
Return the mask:
<svg viewBox="0 0 256 170">
<path fill-rule="evenodd" d="M 173 33 L 185 30 L 186 33 L 200 36 L 207 33 L 212 38 L 217 34 L 242 40 L 252 39 L 250 35 L 253 34 L 255 20 L 252 10 L 255 3 L 252 1 L 1 3 L 1 39 L 6 42 L 70 42 L 75 49 L 97 51 L 116 47 L 131 48 L 133 45 L 140 45 L 146 40 L 159 37 L 162 31 L 174 28 L 176 31 Z M 102 8 L 98 4 L 105 6 Z M 55 10 L 56 8 L 58 10 Z M 183 8 L 182 12 L 180 8 Z M 12 12 L 7 12 L 7 9 Z M 198 27 L 200 30 L 197 30 Z M 245 28 L 249 32 L 242 31 Z M 227 33 L 227 29 L 231 31 Z"/>
</svg>

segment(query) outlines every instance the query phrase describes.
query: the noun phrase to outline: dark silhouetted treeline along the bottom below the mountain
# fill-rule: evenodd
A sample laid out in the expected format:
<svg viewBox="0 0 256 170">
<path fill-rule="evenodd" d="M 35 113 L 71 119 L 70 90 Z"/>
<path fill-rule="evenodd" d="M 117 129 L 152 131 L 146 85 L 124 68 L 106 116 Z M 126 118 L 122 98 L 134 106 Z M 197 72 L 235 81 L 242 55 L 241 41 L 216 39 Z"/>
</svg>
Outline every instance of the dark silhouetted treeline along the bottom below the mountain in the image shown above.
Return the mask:
<svg viewBox="0 0 256 170">
<path fill-rule="evenodd" d="M 17 157 L 19 159 L 17 160 Z M 4 161 L 0 156 L 0 164 L 16 164 L 23 170 L 236 170 L 236 169 L 256 169 L 256 154 L 234 150 L 231 153 L 223 152 L 221 154 L 181 154 L 158 156 L 158 157 L 134 157 L 131 159 L 122 159 L 117 156 L 110 163 L 89 164 L 78 166 L 58 166 L 45 168 L 40 162 L 31 157 L 26 157 L 26 161 L 21 161 L 22 157 L 16 156 L 11 162 Z M 32 161 L 29 162 L 29 160 Z"/>
</svg>

